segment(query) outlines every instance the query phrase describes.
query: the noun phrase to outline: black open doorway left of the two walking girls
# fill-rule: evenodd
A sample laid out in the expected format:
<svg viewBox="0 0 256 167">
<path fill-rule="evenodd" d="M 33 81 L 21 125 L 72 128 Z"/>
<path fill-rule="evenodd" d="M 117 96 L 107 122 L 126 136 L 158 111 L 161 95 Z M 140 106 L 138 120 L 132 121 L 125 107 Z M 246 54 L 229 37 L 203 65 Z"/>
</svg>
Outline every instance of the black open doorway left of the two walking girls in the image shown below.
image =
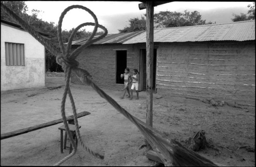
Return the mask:
<svg viewBox="0 0 256 167">
<path fill-rule="evenodd" d="M 125 72 L 127 66 L 127 51 L 116 51 L 116 83 L 123 84 L 124 78 L 121 74 Z"/>
</svg>

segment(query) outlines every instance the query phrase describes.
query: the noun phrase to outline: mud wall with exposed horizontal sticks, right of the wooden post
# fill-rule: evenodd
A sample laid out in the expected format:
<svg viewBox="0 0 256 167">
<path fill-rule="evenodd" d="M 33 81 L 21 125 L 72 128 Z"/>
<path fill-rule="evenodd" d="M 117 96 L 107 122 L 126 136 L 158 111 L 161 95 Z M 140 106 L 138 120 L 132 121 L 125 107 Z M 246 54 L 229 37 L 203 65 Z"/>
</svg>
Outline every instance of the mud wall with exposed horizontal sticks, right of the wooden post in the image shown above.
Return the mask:
<svg viewBox="0 0 256 167">
<path fill-rule="evenodd" d="M 255 107 L 255 41 L 159 44 L 157 90 Z"/>
</svg>

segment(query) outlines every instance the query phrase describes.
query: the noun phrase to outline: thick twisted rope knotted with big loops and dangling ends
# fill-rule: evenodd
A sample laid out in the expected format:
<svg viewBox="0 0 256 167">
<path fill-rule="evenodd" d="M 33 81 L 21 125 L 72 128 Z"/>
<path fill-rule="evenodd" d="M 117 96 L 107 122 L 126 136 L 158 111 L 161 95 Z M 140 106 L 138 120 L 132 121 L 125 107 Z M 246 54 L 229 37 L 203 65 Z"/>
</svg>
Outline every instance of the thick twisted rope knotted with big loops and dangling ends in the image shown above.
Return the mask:
<svg viewBox="0 0 256 167">
<path fill-rule="evenodd" d="M 66 15 L 66 13 L 68 11 L 70 11 L 72 8 L 81 8 L 85 11 L 87 11 L 89 14 L 91 14 L 95 20 L 95 23 L 83 23 L 81 25 L 79 25 L 78 27 L 76 27 L 76 29 L 72 32 L 69 40 L 68 40 L 68 46 L 67 49 L 65 50 L 64 44 L 62 42 L 62 36 L 61 36 L 61 25 L 62 25 L 62 21 L 63 21 L 63 17 L 64 15 Z M 100 155 L 98 153 L 93 152 L 92 150 L 90 150 L 87 146 L 85 146 L 85 144 L 83 143 L 83 141 L 81 140 L 80 137 L 80 132 L 79 132 L 79 128 L 78 128 L 78 120 L 77 120 L 77 114 L 76 114 L 76 107 L 74 104 L 74 99 L 72 97 L 72 93 L 70 90 L 70 74 L 71 74 L 71 70 L 74 67 L 77 67 L 79 65 L 78 61 L 75 60 L 75 58 L 77 57 L 77 55 L 80 53 L 80 51 L 84 48 L 89 46 L 91 43 L 100 40 L 102 38 L 104 38 L 108 31 L 106 30 L 106 28 L 102 25 L 98 24 L 97 21 L 97 17 L 94 15 L 94 13 L 84 7 L 84 6 L 80 6 L 80 5 L 73 5 L 73 6 L 69 6 L 68 8 L 66 8 L 62 13 L 61 16 L 59 18 L 59 24 L 58 24 L 58 29 L 57 29 L 57 33 L 58 33 L 58 42 L 61 48 L 61 54 L 58 53 L 58 51 L 52 47 L 52 45 L 49 44 L 49 41 L 45 40 L 44 38 L 41 37 L 41 35 L 36 32 L 32 27 L 30 27 L 27 23 L 25 23 L 25 21 L 23 21 L 21 18 L 19 18 L 15 13 L 13 13 L 9 8 L 7 8 L 6 6 L 4 6 L 4 4 L 1 3 L 1 9 L 3 11 L 5 11 L 8 15 L 10 15 L 11 17 L 13 17 L 15 19 L 15 21 L 17 21 L 17 23 L 19 23 L 25 30 L 27 30 L 34 38 L 36 38 L 36 40 L 38 40 L 42 45 L 44 45 L 51 53 L 53 53 L 53 55 L 56 56 L 56 61 L 59 65 L 62 66 L 63 70 L 64 70 L 64 74 L 65 74 L 65 89 L 64 89 L 64 93 L 63 93 L 63 97 L 61 100 L 61 116 L 62 116 L 62 120 L 66 129 L 66 132 L 68 134 L 68 137 L 70 138 L 70 142 L 72 143 L 73 146 L 73 150 L 71 152 L 71 154 L 69 154 L 68 156 L 64 157 L 61 161 L 59 161 L 57 164 L 55 165 L 61 165 L 61 163 L 65 162 L 66 160 L 68 160 L 70 157 L 72 157 L 75 153 L 76 153 L 76 144 L 75 141 L 72 137 L 72 134 L 70 132 L 70 129 L 68 127 L 68 123 L 66 120 L 66 114 L 65 114 L 65 102 L 66 102 L 66 97 L 67 95 L 69 95 L 70 97 L 70 102 L 72 105 L 72 110 L 73 110 L 73 114 L 74 114 L 74 122 L 75 122 L 75 127 L 76 127 L 76 135 L 77 138 L 80 142 L 80 144 L 83 146 L 83 148 L 85 150 L 87 150 L 89 153 L 93 154 L 93 156 L 99 158 L 99 159 L 104 159 L 103 155 Z M 77 48 L 73 53 L 70 54 L 70 48 L 71 48 L 71 43 L 72 43 L 72 39 L 74 37 L 74 34 L 83 26 L 85 25 L 95 25 L 93 33 L 91 34 L 90 38 L 87 40 L 85 46 L 81 46 L 79 48 Z M 104 34 L 102 34 L 101 36 L 99 36 L 98 38 L 95 38 L 94 40 L 93 37 L 95 36 L 96 32 L 97 32 L 97 27 L 100 27 L 104 30 Z"/>
</svg>

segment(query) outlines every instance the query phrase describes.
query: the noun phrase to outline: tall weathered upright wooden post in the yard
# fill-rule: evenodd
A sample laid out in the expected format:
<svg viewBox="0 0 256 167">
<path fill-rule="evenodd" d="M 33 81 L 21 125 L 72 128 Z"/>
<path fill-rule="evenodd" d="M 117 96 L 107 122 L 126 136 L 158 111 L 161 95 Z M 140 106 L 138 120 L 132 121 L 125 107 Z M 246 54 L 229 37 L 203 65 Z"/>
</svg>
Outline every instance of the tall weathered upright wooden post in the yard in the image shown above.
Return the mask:
<svg viewBox="0 0 256 167">
<path fill-rule="evenodd" d="M 152 127 L 153 107 L 153 51 L 154 51 L 154 6 L 153 2 L 146 2 L 146 124 Z M 147 144 L 147 150 L 151 147 Z"/>
</svg>

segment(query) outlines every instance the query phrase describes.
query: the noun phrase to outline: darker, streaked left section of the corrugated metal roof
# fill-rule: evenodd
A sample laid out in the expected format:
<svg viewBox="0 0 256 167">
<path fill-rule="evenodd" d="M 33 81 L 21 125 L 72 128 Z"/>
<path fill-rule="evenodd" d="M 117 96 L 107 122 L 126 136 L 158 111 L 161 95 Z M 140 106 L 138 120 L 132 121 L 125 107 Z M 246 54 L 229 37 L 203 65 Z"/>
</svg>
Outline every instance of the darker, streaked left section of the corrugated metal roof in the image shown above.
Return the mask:
<svg viewBox="0 0 256 167">
<path fill-rule="evenodd" d="M 119 34 L 108 34 L 105 38 L 98 40 L 97 42 L 94 42 L 93 44 L 113 44 L 113 43 L 123 43 L 134 36 L 137 36 L 144 31 L 137 31 L 137 32 L 128 32 L 128 33 L 119 33 Z M 98 36 L 95 36 L 96 38 Z M 83 38 L 81 40 L 72 41 L 72 44 L 78 44 L 82 45 L 85 44 L 85 42 L 88 40 L 89 37 Z M 93 39 L 94 39 L 93 38 Z"/>
</svg>

